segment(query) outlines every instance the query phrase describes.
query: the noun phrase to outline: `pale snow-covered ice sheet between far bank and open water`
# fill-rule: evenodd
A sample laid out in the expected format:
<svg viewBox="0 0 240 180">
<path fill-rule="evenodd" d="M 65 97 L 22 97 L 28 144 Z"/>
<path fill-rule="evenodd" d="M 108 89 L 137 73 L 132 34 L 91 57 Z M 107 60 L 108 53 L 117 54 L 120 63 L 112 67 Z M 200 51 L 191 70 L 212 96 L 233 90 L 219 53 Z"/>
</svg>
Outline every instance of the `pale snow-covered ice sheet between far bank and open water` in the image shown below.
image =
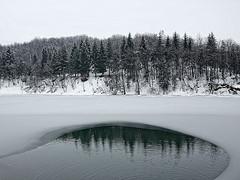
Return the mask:
<svg viewBox="0 0 240 180">
<path fill-rule="evenodd" d="M 0 96 L 1 158 L 35 147 L 55 129 L 127 121 L 178 130 L 209 140 L 230 155 L 217 179 L 240 178 L 240 98 L 139 96 Z"/>
</svg>

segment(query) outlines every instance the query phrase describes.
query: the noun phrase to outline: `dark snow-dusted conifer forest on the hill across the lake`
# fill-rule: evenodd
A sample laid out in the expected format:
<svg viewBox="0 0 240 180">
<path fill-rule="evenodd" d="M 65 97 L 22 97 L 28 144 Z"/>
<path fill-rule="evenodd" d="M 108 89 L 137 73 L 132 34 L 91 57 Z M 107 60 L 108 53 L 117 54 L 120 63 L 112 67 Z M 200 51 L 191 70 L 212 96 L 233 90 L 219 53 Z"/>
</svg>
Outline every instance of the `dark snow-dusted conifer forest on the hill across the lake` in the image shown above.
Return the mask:
<svg viewBox="0 0 240 180">
<path fill-rule="evenodd" d="M 131 83 L 136 93 L 141 82 L 157 84 L 162 92 L 174 90 L 179 81 L 214 82 L 240 74 L 240 46 L 217 41 L 210 33 L 206 40 L 145 34 L 113 36 L 99 40 L 87 36 L 49 40 L 0 48 L 2 80 L 42 81 L 44 79 L 104 76 L 111 88 L 126 94 Z"/>
</svg>

